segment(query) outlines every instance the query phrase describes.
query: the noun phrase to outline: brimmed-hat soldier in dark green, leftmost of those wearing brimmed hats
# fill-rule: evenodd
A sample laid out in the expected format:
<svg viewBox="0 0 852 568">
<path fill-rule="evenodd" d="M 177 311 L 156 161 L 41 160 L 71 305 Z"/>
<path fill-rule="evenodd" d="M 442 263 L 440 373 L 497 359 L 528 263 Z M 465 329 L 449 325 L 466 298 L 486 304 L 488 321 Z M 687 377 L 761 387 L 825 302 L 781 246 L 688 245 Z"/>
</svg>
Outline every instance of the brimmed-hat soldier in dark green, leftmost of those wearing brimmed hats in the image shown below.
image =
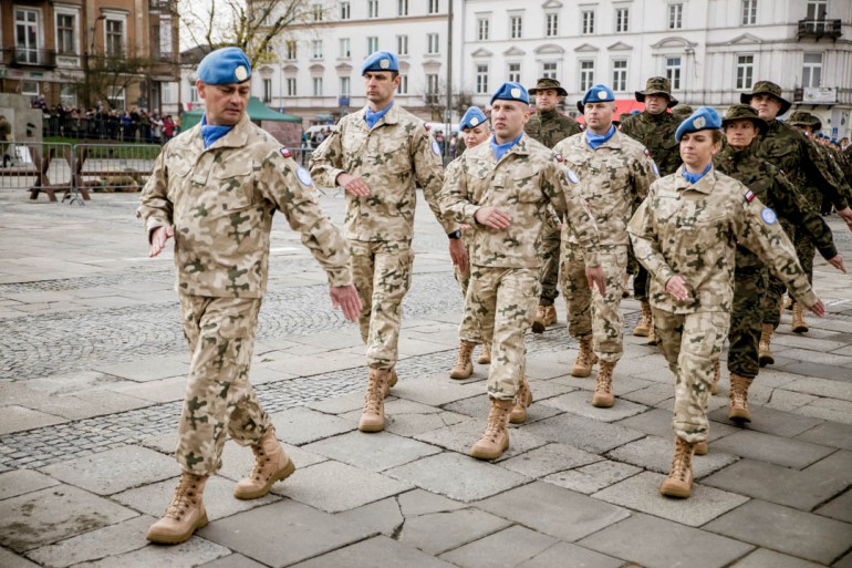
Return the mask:
<svg viewBox="0 0 852 568">
<path fill-rule="evenodd" d="M 573 136 L 583 130 L 571 118 L 560 113 L 557 107 L 568 91 L 555 79 L 542 78 L 529 94 L 536 96 L 536 113 L 530 116 L 523 131 L 544 146 L 552 148 L 561 140 Z M 561 258 L 560 220 L 551 215 L 544 223 L 541 234 L 541 298 L 536 309 L 532 331 L 542 333 L 546 328 L 557 322 L 557 308 L 553 306 L 559 296 L 559 262 Z"/>
</svg>

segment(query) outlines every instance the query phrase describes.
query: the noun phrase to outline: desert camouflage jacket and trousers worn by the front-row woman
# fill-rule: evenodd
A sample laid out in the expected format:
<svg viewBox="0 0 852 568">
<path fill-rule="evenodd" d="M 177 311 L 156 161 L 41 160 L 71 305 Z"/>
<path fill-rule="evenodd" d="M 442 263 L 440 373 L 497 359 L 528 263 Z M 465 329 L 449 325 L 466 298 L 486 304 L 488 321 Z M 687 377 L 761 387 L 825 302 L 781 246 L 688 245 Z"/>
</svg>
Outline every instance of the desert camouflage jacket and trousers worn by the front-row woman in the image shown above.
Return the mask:
<svg viewBox="0 0 852 568">
<path fill-rule="evenodd" d="M 808 306 L 817 302 L 776 216 L 742 184 L 710 169 L 690 185 L 682 169 L 651 186 L 630 223 L 636 259 L 651 275 L 654 331 L 675 374 L 673 425 L 688 443 L 707 440 L 707 403 L 728 330 L 736 245 L 749 248 Z M 666 293 L 679 275 L 687 300 Z"/>
</svg>

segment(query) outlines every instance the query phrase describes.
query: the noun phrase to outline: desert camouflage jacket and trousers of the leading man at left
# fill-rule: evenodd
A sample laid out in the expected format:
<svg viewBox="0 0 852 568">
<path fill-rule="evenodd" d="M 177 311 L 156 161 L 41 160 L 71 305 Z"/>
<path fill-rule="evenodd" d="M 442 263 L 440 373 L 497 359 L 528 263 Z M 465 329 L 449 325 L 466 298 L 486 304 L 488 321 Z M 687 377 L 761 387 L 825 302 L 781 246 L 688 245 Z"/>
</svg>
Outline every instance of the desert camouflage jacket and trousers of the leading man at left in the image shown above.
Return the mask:
<svg viewBox="0 0 852 568">
<path fill-rule="evenodd" d="M 331 286 L 352 276 L 345 240 L 320 210 L 311 178 L 248 116 L 204 148 L 196 126 L 167 144 L 142 192 L 148 235 L 175 228 L 175 266 L 191 363 L 176 457 L 209 475 L 230 435 L 257 443 L 269 425 L 249 382 L 258 311 L 267 287 L 272 215 L 302 234 Z"/>
</svg>

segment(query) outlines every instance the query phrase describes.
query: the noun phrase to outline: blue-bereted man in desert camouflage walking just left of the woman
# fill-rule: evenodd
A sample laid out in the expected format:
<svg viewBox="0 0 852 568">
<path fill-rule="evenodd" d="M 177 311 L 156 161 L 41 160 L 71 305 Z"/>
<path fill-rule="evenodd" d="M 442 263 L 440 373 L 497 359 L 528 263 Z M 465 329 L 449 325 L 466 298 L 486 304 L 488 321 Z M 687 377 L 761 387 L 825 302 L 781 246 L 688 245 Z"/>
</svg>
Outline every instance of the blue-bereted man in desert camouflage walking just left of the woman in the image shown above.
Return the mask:
<svg viewBox="0 0 852 568">
<path fill-rule="evenodd" d="M 610 407 L 612 373 L 624 351 L 624 319 L 619 304 L 627 268 L 627 221 L 634 206 L 647 195 L 657 178 L 648 152 L 612 124 L 615 94 L 606 85 L 594 85 L 576 103 L 585 115 L 586 130 L 555 145 L 569 175 L 579 179 L 580 193 L 589 204 L 601 234 L 599 259 L 606 275 L 606 293 L 593 293 L 585 286 L 585 265 L 576 236 L 562 231 L 562 288 L 568 304 L 568 330 L 580 342 L 574 376 L 589 376 L 600 361 L 592 404 Z"/>
</svg>

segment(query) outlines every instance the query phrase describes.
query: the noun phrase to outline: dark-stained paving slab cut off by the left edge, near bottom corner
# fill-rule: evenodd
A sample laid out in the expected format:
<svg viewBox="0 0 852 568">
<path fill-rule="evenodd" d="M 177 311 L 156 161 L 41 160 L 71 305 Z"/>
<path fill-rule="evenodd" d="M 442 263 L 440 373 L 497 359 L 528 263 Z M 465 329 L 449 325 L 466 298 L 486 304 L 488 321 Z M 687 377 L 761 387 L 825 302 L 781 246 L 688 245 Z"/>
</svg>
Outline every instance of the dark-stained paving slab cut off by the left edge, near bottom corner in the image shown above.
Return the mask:
<svg viewBox="0 0 852 568">
<path fill-rule="evenodd" d="M 56 485 L 0 502 L 0 545 L 31 550 L 137 515 L 83 489 Z"/>
</svg>

